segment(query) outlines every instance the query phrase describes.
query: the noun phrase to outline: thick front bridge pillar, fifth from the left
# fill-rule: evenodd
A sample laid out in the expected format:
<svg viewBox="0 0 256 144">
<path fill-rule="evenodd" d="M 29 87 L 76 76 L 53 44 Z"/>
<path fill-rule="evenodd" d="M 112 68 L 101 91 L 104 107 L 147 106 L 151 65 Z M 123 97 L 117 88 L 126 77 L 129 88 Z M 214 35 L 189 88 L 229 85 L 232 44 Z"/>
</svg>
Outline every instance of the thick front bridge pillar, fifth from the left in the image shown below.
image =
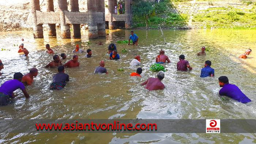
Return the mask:
<svg viewBox="0 0 256 144">
<path fill-rule="evenodd" d="M 89 39 L 98 38 L 97 6 L 95 0 L 87 0 Z"/>
</svg>

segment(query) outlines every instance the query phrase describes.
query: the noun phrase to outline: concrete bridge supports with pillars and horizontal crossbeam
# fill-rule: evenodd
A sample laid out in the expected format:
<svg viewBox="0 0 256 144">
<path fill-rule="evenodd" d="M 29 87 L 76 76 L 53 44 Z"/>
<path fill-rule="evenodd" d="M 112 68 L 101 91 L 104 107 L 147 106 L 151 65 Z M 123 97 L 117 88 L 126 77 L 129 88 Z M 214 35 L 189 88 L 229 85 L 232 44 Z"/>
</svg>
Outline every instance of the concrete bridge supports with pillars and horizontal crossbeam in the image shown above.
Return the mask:
<svg viewBox="0 0 256 144">
<path fill-rule="evenodd" d="M 79 12 L 78 0 L 70 0 L 71 11 L 68 11 L 67 0 L 58 0 L 58 11 L 54 11 L 53 0 L 46 0 L 46 12 L 40 10 L 39 0 L 31 0 L 34 38 L 44 38 L 43 24 L 48 24 L 49 36 L 56 36 L 56 24 L 60 24 L 61 38 L 71 38 L 70 24 L 73 25 L 74 38 L 80 38 L 80 24 L 87 23 L 89 38 L 105 37 L 106 21 L 109 29 L 114 29 L 118 21 L 125 22 L 125 28 L 132 24 L 132 0 L 125 0 L 125 14 L 114 14 L 117 0 L 108 0 L 108 14 L 105 14 L 104 0 L 87 0 L 87 12 Z"/>
</svg>

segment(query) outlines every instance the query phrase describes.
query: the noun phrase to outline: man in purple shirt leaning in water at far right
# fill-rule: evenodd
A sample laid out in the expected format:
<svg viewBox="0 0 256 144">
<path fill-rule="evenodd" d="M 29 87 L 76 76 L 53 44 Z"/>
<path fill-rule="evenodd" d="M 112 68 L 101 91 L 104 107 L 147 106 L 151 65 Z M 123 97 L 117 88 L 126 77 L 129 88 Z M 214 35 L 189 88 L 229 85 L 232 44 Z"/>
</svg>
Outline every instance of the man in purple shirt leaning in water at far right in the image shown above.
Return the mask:
<svg viewBox="0 0 256 144">
<path fill-rule="evenodd" d="M 221 90 L 219 90 L 219 95 L 226 95 L 241 103 L 251 102 L 251 99 L 242 93 L 236 85 L 229 84 L 229 79 L 226 76 L 219 77 L 219 86 L 222 87 Z"/>
</svg>

